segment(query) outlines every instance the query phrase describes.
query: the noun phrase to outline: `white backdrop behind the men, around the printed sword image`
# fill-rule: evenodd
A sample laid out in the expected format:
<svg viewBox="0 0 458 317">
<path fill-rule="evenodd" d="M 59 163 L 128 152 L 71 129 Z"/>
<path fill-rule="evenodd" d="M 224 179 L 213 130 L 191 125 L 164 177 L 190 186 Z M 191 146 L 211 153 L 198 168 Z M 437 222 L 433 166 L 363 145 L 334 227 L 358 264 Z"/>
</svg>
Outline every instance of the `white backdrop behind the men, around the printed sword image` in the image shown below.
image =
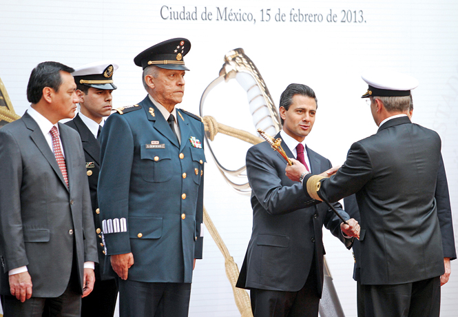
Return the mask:
<svg viewBox="0 0 458 317">
<path fill-rule="evenodd" d="M 25 88 L 30 71 L 41 61 L 78 67 L 112 59 L 120 65 L 114 74 L 118 85 L 114 107 L 138 103 L 145 91 L 141 69 L 133 63 L 136 54 L 165 39 L 186 37 L 191 51 L 185 61 L 191 71 L 186 75 L 180 108 L 198 114 L 200 96 L 218 76 L 226 52 L 243 48 L 260 70 L 276 104 L 289 83 L 304 83 L 315 90 L 318 113 L 306 141 L 340 165 L 353 141 L 377 130 L 360 99 L 367 89 L 360 79 L 362 70 L 395 68 L 419 79 L 419 88 L 413 92 L 413 121 L 441 136 L 458 227 L 456 1 L 128 2 L 0 0 L 0 78 L 16 112 L 22 115 L 29 105 Z M 246 94 L 235 81 L 211 91 L 205 114 L 220 123 L 255 131 Z M 231 168 L 243 164 L 248 145 L 242 141 L 218 135 L 214 146 L 223 164 Z M 225 183 L 209 152 L 207 161 L 205 206 L 240 267 L 251 234 L 249 197 L 236 194 Z M 458 229 L 455 236 L 456 232 Z M 344 312 L 356 316 L 351 252 L 327 232 L 324 243 Z M 442 288 L 441 316 L 456 316 L 457 276 L 458 265 L 452 263 L 452 277 Z M 204 259 L 198 261 L 194 272 L 189 315 L 240 316 L 224 260 L 209 234 Z"/>
</svg>

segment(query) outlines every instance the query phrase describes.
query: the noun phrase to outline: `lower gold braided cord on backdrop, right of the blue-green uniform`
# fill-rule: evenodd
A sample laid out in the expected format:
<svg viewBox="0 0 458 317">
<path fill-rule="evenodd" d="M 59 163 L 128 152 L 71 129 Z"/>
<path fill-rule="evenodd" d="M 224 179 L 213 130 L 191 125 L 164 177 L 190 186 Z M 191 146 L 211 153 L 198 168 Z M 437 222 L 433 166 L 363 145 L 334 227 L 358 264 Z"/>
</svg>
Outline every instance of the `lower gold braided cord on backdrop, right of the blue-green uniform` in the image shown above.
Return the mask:
<svg viewBox="0 0 458 317">
<path fill-rule="evenodd" d="M 216 245 L 218 245 L 218 248 L 220 249 L 222 255 L 225 258 L 226 276 L 229 280 L 229 283 L 231 283 L 233 297 L 236 300 L 238 311 L 240 311 L 242 317 L 253 317 L 253 314 L 251 313 L 250 298 L 248 296 L 247 291 L 236 287 L 239 274 L 237 263 L 233 261 L 233 257 L 231 256 L 231 254 L 229 254 L 229 250 L 227 249 L 225 242 L 222 241 L 222 238 L 218 230 L 216 229 L 213 221 L 211 221 L 211 218 L 205 207 L 204 223 L 205 227 L 207 227 L 208 231 L 210 232 L 211 238 L 213 238 Z"/>
</svg>

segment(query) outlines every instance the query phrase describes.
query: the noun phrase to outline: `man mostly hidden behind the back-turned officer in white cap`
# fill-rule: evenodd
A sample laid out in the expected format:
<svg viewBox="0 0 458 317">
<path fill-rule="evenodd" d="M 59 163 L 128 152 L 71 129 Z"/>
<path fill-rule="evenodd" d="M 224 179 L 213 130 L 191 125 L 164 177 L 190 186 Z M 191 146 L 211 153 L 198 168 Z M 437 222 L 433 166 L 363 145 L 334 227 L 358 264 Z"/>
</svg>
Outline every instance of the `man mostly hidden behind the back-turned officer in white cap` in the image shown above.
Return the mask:
<svg viewBox="0 0 458 317">
<path fill-rule="evenodd" d="M 413 114 L 413 100 L 410 96 L 410 105 L 408 110 L 408 116 L 412 119 Z M 437 172 L 437 184 L 435 199 L 437 203 L 437 217 L 439 218 L 439 224 L 441 226 L 441 237 L 442 237 L 442 251 L 444 252 L 444 267 L 445 273 L 441 275 L 441 286 L 448 282 L 450 278 L 451 267 L 450 260 L 457 258 L 457 252 L 455 249 L 455 235 L 453 234 L 452 226 L 452 209 L 450 207 L 450 196 L 448 194 L 447 176 L 444 167 L 444 161 L 440 160 L 439 171 Z M 344 207 L 347 214 L 360 221 L 360 209 L 358 208 L 355 194 L 344 198 Z M 353 257 L 355 258 L 355 265 L 353 268 L 353 279 L 356 281 L 356 294 L 357 294 L 357 310 L 358 316 L 366 316 L 364 309 L 364 296 L 363 287 L 361 285 L 361 252 L 360 252 L 360 241 L 354 241 L 353 243 Z"/>
</svg>

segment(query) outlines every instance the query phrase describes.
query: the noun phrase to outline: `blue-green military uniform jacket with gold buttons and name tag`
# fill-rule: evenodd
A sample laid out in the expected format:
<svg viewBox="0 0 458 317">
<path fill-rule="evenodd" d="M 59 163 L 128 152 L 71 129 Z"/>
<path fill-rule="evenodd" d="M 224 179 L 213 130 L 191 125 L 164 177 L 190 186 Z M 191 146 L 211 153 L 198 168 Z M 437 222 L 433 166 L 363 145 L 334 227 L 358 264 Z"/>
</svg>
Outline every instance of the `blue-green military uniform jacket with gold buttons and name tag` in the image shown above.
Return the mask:
<svg viewBox="0 0 458 317">
<path fill-rule="evenodd" d="M 105 251 L 134 254 L 129 280 L 191 283 L 202 258 L 204 125 L 177 109 L 179 144 L 148 96 L 121 111 L 101 134 L 98 205 L 102 221 L 127 228 L 103 232 Z"/>
</svg>

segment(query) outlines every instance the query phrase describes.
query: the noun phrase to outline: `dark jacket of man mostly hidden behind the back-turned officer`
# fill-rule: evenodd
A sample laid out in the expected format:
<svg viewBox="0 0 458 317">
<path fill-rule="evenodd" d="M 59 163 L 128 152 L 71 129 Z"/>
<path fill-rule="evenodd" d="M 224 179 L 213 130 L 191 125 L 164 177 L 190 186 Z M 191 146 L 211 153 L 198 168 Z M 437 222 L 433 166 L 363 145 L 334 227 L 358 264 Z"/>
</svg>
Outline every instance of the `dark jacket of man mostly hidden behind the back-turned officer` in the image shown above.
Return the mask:
<svg viewBox="0 0 458 317">
<path fill-rule="evenodd" d="M 435 198 L 437 203 L 437 217 L 441 226 L 442 237 L 442 251 L 444 258 L 455 260 L 457 258 L 457 251 L 455 249 L 455 235 L 453 234 L 452 225 L 452 208 L 450 207 L 450 196 L 448 194 L 448 184 L 444 161 L 440 161 L 439 171 L 437 172 L 437 185 Z M 358 222 L 361 221 L 360 209 L 358 208 L 356 196 L 344 198 L 345 212 L 355 218 Z M 361 274 L 361 254 L 360 254 L 360 241 L 355 240 L 353 243 L 353 257 L 355 258 L 355 265 L 353 267 L 353 279 L 360 281 Z"/>
</svg>

